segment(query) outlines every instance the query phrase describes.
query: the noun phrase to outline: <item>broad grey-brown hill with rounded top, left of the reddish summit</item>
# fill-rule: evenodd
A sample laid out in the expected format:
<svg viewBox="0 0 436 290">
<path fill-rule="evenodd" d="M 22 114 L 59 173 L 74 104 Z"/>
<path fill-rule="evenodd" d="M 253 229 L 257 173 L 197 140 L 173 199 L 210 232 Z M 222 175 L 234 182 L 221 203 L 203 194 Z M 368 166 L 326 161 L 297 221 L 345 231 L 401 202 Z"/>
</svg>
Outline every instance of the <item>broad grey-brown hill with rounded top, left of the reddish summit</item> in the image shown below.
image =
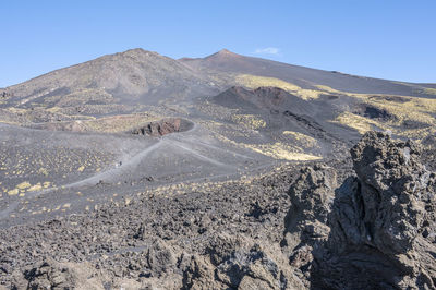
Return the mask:
<svg viewBox="0 0 436 290">
<path fill-rule="evenodd" d="M 217 88 L 177 60 L 132 49 L 8 87 L 5 95 L 12 96 L 10 105 L 19 108 L 35 105 L 143 105 L 157 104 L 170 97 L 210 94 L 218 92 Z"/>
</svg>

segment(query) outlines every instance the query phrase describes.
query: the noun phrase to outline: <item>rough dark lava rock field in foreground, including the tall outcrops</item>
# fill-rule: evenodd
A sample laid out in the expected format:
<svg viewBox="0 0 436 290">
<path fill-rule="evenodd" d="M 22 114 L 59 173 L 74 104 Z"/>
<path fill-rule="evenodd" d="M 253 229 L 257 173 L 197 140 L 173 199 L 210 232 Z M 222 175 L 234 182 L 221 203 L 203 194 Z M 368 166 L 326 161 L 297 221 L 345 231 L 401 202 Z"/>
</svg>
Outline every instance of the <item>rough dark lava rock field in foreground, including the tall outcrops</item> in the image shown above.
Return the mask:
<svg viewBox="0 0 436 290">
<path fill-rule="evenodd" d="M 5 289 L 435 289 L 436 174 L 368 132 L 349 159 L 0 232 Z"/>
</svg>

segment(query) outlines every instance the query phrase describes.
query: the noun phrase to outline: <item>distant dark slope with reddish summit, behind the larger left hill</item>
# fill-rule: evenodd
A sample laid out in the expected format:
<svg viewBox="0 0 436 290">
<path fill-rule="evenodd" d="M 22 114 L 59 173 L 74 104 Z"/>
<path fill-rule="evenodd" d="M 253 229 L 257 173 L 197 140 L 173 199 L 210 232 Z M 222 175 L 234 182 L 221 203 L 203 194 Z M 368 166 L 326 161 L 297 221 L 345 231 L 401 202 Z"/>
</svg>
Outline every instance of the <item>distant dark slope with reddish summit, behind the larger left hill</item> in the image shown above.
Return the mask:
<svg viewBox="0 0 436 290">
<path fill-rule="evenodd" d="M 325 85 L 334 89 L 363 93 L 363 94 L 391 94 L 402 96 L 434 95 L 423 92 L 423 86 L 411 83 L 400 83 L 386 80 L 355 76 L 340 72 L 315 70 L 277 61 L 245 57 L 229 50 L 220 50 L 211 56 L 199 59 L 180 59 L 181 62 L 196 70 L 216 70 L 276 77 L 303 88 L 313 85 Z"/>
</svg>

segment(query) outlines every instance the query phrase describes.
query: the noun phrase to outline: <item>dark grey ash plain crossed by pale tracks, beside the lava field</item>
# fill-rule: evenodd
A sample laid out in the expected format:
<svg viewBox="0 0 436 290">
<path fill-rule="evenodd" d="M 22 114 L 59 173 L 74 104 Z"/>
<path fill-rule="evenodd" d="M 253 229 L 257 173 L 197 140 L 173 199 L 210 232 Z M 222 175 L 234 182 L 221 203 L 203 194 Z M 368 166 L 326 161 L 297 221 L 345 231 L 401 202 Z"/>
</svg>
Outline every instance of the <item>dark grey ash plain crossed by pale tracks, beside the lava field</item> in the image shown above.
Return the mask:
<svg viewBox="0 0 436 290">
<path fill-rule="evenodd" d="M 33 130 L 0 124 L 0 227 L 98 208 L 183 182 L 226 180 L 275 164 L 205 129 L 149 135 Z M 153 132 L 153 131 L 152 131 Z M 164 186 L 164 188 L 162 188 Z"/>
</svg>

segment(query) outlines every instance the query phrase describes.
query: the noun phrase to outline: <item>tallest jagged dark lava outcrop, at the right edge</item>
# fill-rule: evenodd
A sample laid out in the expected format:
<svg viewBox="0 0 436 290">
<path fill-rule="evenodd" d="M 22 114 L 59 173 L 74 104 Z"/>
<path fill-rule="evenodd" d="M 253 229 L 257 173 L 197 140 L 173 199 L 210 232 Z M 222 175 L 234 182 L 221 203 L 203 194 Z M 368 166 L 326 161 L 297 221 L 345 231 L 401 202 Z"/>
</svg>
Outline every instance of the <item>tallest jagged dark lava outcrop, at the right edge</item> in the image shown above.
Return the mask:
<svg viewBox="0 0 436 290">
<path fill-rule="evenodd" d="M 436 178 L 420 152 L 376 132 L 351 149 L 358 177 L 336 190 L 328 240 L 312 252 L 315 288 L 436 287 Z"/>
</svg>

